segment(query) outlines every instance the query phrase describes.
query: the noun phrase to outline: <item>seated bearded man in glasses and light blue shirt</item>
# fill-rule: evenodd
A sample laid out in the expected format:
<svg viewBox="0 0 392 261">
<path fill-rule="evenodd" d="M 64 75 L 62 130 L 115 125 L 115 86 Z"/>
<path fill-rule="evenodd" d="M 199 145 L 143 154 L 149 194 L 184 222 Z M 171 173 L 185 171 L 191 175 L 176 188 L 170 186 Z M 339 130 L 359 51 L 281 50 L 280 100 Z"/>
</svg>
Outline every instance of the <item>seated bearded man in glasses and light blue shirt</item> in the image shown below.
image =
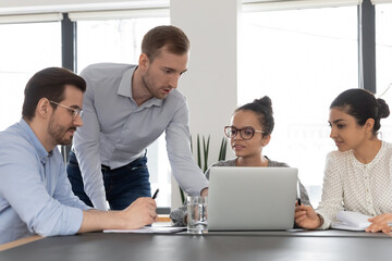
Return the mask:
<svg viewBox="0 0 392 261">
<path fill-rule="evenodd" d="M 0 132 L 0 244 L 32 234 L 138 228 L 157 221 L 151 198 L 103 212 L 72 192 L 57 146 L 70 145 L 83 125 L 85 89 L 85 80 L 69 70 L 42 70 L 26 85 L 22 120 Z"/>
</svg>

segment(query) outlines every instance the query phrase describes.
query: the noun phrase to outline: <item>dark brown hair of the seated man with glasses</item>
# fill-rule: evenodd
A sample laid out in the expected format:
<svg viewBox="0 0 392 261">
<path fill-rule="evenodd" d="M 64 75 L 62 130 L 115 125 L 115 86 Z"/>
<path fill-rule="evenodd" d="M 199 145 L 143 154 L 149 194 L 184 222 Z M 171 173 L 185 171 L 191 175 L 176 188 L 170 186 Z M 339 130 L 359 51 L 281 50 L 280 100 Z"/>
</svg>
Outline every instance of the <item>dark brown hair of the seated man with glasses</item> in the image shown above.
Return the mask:
<svg viewBox="0 0 392 261">
<path fill-rule="evenodd" d="M 42 98 L 61 102 L 64 99 L 65 85 L 74 85 L 82 92 L 86 91 L 86 82 L 68 69 L 48 67 L 33 75 L 24 90 L 23 119 L 33 120 L 37 104 Z"/>
</svg>

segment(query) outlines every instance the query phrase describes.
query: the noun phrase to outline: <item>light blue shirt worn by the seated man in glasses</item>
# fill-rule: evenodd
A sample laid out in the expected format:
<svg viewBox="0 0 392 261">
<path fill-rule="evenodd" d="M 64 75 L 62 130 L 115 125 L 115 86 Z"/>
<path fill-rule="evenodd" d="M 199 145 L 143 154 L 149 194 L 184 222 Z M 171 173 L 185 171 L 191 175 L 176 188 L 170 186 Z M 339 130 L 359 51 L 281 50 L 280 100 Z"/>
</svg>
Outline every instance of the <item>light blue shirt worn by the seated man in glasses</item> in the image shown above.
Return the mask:
<svg viewBox="0 0 392 261">
<path fill-rule="evenodd" d="M 0 244 L 77 233 L 89 208 L 73 195 L 58 148 L 48 153 L 24 120 L 0 140 Z"/>
</svg>

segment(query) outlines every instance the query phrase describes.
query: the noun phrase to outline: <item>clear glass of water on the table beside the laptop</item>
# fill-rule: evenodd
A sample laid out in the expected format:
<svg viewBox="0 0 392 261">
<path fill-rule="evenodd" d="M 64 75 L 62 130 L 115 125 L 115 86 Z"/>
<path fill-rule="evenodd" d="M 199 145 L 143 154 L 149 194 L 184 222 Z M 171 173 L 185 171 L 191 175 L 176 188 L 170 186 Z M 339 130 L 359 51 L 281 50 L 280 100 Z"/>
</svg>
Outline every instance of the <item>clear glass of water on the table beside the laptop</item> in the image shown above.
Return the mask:
<svg viewBox="0 0 392 261">
<path fill-rule="evenodd" d="M 206 234 L 207 228 L 207 197 L 188 196 L 187 206 L 187 233 Z"/>
</svg>

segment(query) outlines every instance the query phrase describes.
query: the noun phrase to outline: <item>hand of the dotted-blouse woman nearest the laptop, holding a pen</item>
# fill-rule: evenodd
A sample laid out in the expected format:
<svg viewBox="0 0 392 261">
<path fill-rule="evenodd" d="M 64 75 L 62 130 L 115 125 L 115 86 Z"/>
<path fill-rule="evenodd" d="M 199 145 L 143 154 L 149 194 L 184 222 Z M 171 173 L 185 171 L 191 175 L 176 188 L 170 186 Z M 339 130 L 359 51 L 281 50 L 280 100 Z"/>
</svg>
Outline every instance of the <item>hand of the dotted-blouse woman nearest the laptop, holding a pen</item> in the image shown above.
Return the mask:
<svg viewBox="0 0 392 261">
<path fill-rule="evenodd" d="M 311 206 L 296 206 L 294 220 L 298 226 L 306 229 L 315 229 L 322 225 L 320 216 Z"/>
</svg>

